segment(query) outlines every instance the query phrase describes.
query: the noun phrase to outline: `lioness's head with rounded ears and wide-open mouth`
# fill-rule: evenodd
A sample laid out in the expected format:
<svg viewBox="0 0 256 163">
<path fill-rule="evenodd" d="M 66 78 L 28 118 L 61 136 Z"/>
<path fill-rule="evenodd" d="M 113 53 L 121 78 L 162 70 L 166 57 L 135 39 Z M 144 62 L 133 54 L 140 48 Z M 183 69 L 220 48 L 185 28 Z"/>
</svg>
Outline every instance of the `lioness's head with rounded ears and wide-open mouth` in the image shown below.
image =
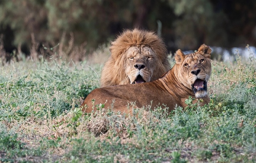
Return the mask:
<svg viewBox="0 0 256 163">
<path fill-rule="evenodd" d="M 184 55 L 178 50 L 175 55 L 178 78 L 187 88 L 193 90 L 197 99 L 207 95 L 207 81 L 212 72 L 210 53 L 210 47 L 203 44 L 197 52 Z"/>
</svg>

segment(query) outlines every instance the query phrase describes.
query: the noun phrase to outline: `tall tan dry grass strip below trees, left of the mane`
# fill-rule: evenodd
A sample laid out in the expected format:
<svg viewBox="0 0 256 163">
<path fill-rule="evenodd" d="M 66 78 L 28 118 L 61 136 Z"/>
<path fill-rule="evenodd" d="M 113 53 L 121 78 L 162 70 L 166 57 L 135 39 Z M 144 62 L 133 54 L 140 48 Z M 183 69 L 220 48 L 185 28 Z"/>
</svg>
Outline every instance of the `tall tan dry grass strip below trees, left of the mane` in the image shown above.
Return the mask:
<svg viewBox="0 0 256 163">
<path fill-rule="evenodd" d="M 40 45 L 34 38 L 34 34 L 31 33 L 31 48 L 30 54 L 24 54 L 21 51 L 21 45 L 18 46 L 17 51 L 13 51 L 11 54 L 4 50 L 4 44 L 2 35 L 0 36 L 0 63 L 4 65 L 10 62 L 19 61 L 37 61 L 37 60 L 66 60 L 74 63 L 81 61 L 87 61 L 88 65 L 93 66 L 103 65 L 107 58 L 110 56 L 109 45 L 104 44 L 99 46 L 96 50 L 88 50 L 86 48 L 87 43 L 76 46 L 74 45 L 74 34 L 70 33 L 69 41 L 65 40 L 66 33 L 63 33 L 60 43 L 54 46 L 45 43 Z M 68 43 L 67 43 L 68 42 Z"/>
</svg>

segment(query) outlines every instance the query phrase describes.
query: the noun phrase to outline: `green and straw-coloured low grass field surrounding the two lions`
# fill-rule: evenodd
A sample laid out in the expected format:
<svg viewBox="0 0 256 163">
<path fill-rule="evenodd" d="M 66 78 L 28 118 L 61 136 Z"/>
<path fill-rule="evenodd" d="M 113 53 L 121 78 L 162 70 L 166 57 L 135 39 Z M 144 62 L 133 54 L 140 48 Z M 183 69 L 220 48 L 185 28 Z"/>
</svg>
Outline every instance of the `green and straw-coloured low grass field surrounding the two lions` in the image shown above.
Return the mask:
<svg viewBox="0 0 256 163">
<path fill-rule="evenodd" d="M 254 59 L 212 61 L 212 100 L 204 107 L 188 99 L 188 107 L 171 114 L 160 107 L 134 110 L 137 116 L 102 108 L 85 115 L 78 107 L 99 87 L 102 66 L 63 60 L 1 66 L 0 162 L 256 161 Z"/>
</svg>

